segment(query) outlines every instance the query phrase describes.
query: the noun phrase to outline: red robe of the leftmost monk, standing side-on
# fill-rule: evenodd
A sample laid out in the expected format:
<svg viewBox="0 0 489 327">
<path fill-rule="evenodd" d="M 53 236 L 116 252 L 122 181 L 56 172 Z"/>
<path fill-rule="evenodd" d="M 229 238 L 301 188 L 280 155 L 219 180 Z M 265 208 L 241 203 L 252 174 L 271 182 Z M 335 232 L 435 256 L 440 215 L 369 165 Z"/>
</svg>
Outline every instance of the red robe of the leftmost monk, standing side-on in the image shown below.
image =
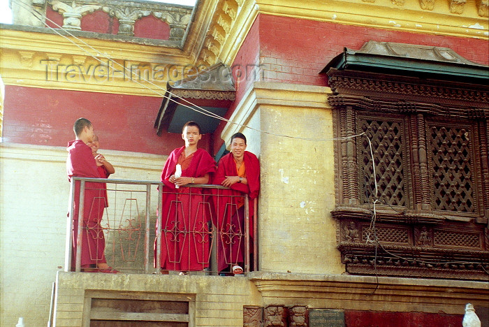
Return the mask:
<svg viewBox="0 0 489 327">
<path fill-rule="evenodd" d="M 68 159 L 66 159 L 66 173 L 68 181 L 71 177 L 100 178 L 92 148 L 82 140 L 74 140 L 68 143 Z M 105 176 L 104 176 L 105 178 Z M 105 238 L 100 221 L 103 209 L 106 206 L 106 194 L 101 183 L 85 182 L 85 201 L 83 207 L 83 233 L 82 233 L 82 267 L 89 267 L 97 263 L 106 263 L 103 254 L 105 250 Z M 75 183 L 73 195 L 73 242 L 71 251 L 71 268 L 75 268 L 78 237 L 78 209 L 80 207 L 80 182 Z"/>
</svg>

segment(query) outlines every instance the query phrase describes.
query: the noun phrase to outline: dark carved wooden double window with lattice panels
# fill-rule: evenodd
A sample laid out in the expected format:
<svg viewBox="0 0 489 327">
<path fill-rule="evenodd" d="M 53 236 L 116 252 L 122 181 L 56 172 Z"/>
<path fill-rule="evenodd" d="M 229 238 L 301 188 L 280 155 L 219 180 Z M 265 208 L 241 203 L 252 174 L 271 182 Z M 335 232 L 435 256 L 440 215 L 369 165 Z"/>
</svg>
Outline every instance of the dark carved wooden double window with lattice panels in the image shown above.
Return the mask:
<svg viewBox="0 0 489 327">
<path fill-rule="evenodd" d="M 486 280 L 489 178 L 484 176 L 489 176 L 489 87 L 335 69 L 328 75 L 333 90 L 328 98 L 333 107 L 333 131 L 339 138 L 334 145 L 336 207 L 331 213 L 337 219 L 337 244 L 346 272 Z M 369 165 L 361 162 L 366 138 L 356 135 L 365 131 L 362 124 L 368 119 L 377 121 L 372 123 L 377 127 L 381 122 L 397 122 L 403 138 L 400 148 L 406 199 L 402 205 L 376 203 L 380 245 L 369 242 L 373 237 L 369 234 L 372 201 L 364 201 L 360 194 L 363 168 L 369 168 L 371 161 Z M 387 123 L 388 128 L 394 125 Z M 432 157 L 436 154 L 430 152 L 435 148 L 431 126 L 460 131 L 469 126 L 467 137 L 472 144 L 469 173 L 465 174 L 472 178 L 472 212 L 461 210 L 463 203 L 454 210 L 437 210 L 432 205 L 436 198 Z M 371 141 L 376 142 L 374 138 Z M 460 149 L 456 150 L 463 151 Z M 458 160 L 455 154 L 450 155 Z M 381 165 L 376 171 L 379 168 Z M 381 181 L 377 184 L 380 187 Z"/>
</svg>

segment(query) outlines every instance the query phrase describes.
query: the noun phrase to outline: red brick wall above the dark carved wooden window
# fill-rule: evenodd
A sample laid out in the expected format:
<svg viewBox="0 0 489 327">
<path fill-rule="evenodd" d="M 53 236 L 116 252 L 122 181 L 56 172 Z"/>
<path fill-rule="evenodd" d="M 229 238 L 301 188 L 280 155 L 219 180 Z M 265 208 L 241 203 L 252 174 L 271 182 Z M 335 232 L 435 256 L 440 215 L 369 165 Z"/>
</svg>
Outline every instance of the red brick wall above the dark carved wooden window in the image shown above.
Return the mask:
<svg viewBox="0 0 489 327">
<path fill-rule="evenodd" d="M 370 40 L 451 48 L 476 63 L 489 64 L 488 41 L 475 38 L 416 34 L 263 14 L 259 26 L 260 56 L 263 62 L 270 63 L 273 72 L 265 78 L 269 81 L 327 85 L 326 77 L 319 76 L 319 71 L 344 47 L 358 50 Z"/>
</svg>

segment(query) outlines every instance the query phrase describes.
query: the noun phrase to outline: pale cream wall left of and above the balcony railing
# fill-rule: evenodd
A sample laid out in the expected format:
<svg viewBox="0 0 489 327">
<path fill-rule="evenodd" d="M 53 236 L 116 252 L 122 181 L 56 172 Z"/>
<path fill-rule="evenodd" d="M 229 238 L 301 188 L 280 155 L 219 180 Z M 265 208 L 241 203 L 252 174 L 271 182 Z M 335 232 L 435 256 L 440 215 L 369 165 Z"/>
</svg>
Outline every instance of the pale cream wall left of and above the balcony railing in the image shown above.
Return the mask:
<svg viewBox="0 0 489 327">
<path fill-rule="evenodd" d="M 124 180 L 158 181 L 165 160 L 153 154 L 99 152 L 115 166 L 112 178 Z M 52 282 L 64 270 L 68 194 L 63 147 L 0 143 L 2 326 L 15 326 L 19 317 L 26 326 L 46 326 Z"/>
</svg>

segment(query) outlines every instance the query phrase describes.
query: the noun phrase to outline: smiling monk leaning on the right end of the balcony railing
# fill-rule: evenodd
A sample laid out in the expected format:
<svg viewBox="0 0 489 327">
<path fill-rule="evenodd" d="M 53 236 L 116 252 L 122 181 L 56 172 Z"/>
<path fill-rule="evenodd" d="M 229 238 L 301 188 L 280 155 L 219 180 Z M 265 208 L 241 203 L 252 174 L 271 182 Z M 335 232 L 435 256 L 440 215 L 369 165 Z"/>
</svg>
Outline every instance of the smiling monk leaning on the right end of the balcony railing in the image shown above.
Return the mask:
<svg viewBox="0 0 489 327">
<path fill-rule="evenodd" d="M 214 196 L 217 215 L 217 268 L 231 268 L 242 273 L 245 261 L 245 199 L 249 198 L 249 235 L 253 235 L 254 199 L 260 190 L 260 163 L 251 152 L 245 151 L 246 137 L 235 133 L 231 137 L 231 153 L 219 161 L 213 184 L 221 184 L 231 190 L 219 190 Z M 214 224 L 216 222 L 214 221 Z M 251 242 L 252 243 L 252 242 Z"/>
</svg>

